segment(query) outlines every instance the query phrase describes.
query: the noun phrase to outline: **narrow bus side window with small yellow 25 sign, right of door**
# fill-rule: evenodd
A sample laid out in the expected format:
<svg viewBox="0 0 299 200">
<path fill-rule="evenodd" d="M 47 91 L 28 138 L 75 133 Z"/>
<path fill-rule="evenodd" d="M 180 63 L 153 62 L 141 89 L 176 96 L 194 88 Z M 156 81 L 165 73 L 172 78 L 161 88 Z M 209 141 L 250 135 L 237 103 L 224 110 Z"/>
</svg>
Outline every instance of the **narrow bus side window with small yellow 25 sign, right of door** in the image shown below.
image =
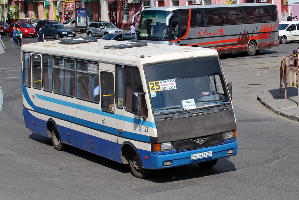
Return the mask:
<svg viewBox="0 0 299 200">
<path fill-rule="evenodd" d="M 120 65 L 115 66 L 115 101 L 116 107 L 122 109 L 123 108 L 123 67 Z"/>
</svg>

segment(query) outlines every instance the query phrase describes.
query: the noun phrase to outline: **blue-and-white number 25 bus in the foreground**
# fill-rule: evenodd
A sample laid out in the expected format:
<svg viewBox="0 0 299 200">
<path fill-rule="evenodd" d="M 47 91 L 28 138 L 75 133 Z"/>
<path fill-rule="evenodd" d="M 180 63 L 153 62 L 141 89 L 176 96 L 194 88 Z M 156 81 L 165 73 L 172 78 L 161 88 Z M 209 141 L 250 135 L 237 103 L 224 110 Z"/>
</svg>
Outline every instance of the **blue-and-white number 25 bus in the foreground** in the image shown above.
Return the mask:
<svg viewBox="0 0 299 200">
<path fill-rule="evenodd" d="M 216 50 L 94 39 L 22 46 L 27 128 L 59 151 L 129 164 L 138 178 L 237 154 L 231 83 Z"/>
</svg>

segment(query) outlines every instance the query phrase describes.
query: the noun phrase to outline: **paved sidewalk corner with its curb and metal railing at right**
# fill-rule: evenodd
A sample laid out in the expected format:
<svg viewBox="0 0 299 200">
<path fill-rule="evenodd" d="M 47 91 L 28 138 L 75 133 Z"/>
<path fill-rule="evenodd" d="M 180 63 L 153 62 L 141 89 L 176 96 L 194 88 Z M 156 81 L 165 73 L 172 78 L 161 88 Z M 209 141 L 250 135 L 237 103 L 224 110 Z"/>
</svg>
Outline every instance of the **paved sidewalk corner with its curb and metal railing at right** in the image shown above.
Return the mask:
<svg viewBox="0 0 299 200">
<path fill-rule="evenodd" d="M 294 55 L 283 58 L 280 82 L 263 87 L 257 94 L 257 100 L 274 113 L 299 122 L 298 54 Z"/>
</svg>

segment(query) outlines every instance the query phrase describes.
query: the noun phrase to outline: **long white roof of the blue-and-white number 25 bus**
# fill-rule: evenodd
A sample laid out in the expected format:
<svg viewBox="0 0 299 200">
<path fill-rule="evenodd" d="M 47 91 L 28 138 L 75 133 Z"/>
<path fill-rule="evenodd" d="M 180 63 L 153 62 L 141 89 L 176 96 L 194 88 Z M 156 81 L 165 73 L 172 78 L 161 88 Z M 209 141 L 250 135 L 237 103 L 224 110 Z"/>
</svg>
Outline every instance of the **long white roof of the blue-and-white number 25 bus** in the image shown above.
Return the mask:
<svg viewBox="0 0 299 200">
<path fill-rule="evenodd" d="M 22 51 L 102 62 L 143 65 L 161 61 L 218 56 L 215 49 L 151 44 L 126 49 L 104 49 L 104 46 L 134 42 L 98 40 L 91 43 L 61 44 L 58 40 L 22 45 Z M 137 43 L 136 43 L 137 44 Z"/>
</svg>

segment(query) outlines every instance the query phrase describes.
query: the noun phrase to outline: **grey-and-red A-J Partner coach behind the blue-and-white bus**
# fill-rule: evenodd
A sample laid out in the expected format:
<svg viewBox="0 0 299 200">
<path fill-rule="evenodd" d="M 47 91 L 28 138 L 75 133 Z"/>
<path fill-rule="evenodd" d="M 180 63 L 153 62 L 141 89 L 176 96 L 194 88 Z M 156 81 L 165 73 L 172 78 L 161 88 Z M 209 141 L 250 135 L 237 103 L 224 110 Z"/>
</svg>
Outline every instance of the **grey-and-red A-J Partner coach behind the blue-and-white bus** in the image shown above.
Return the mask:
<svg viewBox="0 0 299 200">
<path fill-rule="evenodd" d="M 275 4 L 152 7 L 136 13 L 133 22 L 138 14 L 138 41 L 147 43 L 215 47 L 219 54 L 249 56 L 279 45 Z"/>
</svg>

